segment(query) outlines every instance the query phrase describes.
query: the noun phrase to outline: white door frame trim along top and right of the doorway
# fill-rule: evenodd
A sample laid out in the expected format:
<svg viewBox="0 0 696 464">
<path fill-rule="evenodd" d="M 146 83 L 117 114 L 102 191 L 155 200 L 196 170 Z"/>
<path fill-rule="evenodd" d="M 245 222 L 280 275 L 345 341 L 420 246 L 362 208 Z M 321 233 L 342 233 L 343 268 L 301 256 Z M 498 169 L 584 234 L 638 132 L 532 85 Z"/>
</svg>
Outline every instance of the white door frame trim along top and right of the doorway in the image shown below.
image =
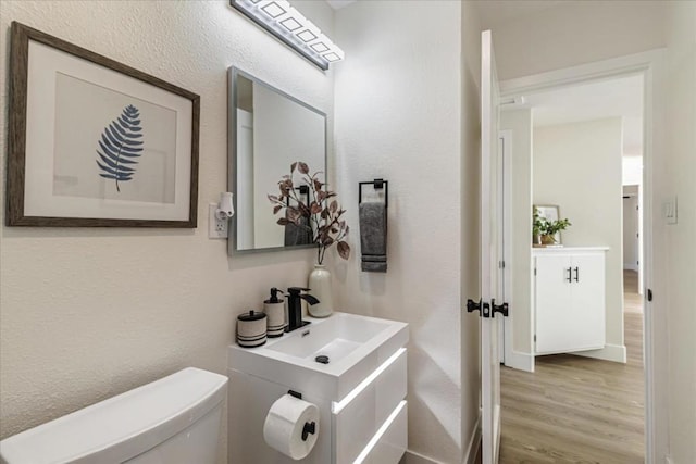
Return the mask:
<svg viewBox="0 0 696 464">
<path fill-rule="evenodd" d="M 655 205 L 654 171 L 658 145 L 661 147 L 656 117 L 656 106 L 659 106 L 662 97 L 661 84 L 664 73 L 664 50 L 657 49 L 642 53 L 624 55 L 616 59 L 598 61 L 579 66 L 540 73 L 500 81 L 500 98 L 509 99 L 517 96 L 533 93 L 543 90 L 557 89 L 572 85 L 611 79 L 629 75 L 643 75 L 644 111 L 643 111 L 643 273 L 642 284 L 645 288 L 656 288 L 661 281 L 654 269 L 654 227 L 652 217 Z M 655 339 L 663 329 L 660 323 L 652 317 L 654 313 L 660 313 L 659 301 L 644 301 L 644 380 L 645 380 L 645 459 L 646 463 L 658 463 L 658 456 L 667 447 L 667 418 L 659 410 L 656 401 L 656 384 L 663 384 L 655 374 L 656 347 Z M 513 311 L 513 310 L 512 310 Z M 662 356 L 660 356 L 662 358 Z M 662 388 L 660 388 L 662 389 Z"/>
</svg>

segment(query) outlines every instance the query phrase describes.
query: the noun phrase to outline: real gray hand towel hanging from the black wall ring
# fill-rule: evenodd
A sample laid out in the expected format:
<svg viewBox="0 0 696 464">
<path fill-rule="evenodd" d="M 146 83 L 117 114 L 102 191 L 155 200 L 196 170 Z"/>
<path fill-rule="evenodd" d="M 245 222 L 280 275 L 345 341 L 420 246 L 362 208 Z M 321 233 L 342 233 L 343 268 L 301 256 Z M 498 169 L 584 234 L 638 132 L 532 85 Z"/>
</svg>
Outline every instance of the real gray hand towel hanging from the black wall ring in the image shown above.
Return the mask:
<svg viewBox="0 0 696 464">
<path fill-rule="evenodd" d="M 360 203 L 362 271 L 387 272 L 387 210 L 376 201 Z"/>
</svg>

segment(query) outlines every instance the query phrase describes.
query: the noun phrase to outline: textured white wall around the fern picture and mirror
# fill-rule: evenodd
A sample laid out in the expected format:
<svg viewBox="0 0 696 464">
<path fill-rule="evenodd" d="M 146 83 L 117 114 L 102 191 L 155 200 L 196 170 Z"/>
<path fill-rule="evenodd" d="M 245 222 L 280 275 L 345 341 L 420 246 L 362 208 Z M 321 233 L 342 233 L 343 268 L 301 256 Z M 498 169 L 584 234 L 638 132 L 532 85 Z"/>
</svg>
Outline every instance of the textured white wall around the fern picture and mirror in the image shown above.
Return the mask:
<svg viewBox="0 0 696 464">
<path fill-rule="evenodd" d="M 307 7 L 331 17 L 323 2 Z M 207 238 L 208 202 L 227 185 L 227 67 L 333 113 L 333 73 L 227 1 L 3 0 L 4 39 L 11 21 L 201 96 L 199 227 L 0 228 L 0 437 L 185 366 L 225 373 L 235 316 L 260 308 L 271 286 L 303 284 L 313 259 L 310 250 L 227 258 L 224 240 Z M 8 51 L 3 40 L 3 176 Z"/>
</svg>

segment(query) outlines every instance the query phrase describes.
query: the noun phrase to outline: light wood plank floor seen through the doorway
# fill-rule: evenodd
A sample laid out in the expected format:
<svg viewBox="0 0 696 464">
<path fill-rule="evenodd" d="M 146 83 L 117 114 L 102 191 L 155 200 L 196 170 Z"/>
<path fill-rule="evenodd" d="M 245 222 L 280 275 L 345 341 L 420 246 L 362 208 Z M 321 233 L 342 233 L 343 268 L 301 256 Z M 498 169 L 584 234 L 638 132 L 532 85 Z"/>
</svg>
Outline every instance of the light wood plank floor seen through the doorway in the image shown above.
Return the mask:
<svg viewBox="0 0 696 464">
<path fill-rule="evenodd" d="M 557 354 L 534 374 L 501 366 L 501 464 L 644 462 L 642 300 L 626 281 L 626 364 Z"/>
</svg>

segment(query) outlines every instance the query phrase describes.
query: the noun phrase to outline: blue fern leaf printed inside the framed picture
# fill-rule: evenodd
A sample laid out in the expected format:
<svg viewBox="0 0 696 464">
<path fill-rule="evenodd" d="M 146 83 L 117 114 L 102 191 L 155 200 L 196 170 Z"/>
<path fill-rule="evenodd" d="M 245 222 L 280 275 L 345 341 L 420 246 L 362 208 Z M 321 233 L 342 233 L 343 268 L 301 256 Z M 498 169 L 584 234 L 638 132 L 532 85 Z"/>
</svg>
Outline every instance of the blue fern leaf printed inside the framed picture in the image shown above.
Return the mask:
<svg viewBox="0 0 696 464">
<path fill-rule="evenodd" d="M 116 191 L 121 192 L 119 183 L 133 180 L 137 159 L 142 154 L 140 111 L 132 104 L 124 108 L 121 115 L 104 127 L 98 143 L 99 175 L 115 180 Z"/>
</svg>

